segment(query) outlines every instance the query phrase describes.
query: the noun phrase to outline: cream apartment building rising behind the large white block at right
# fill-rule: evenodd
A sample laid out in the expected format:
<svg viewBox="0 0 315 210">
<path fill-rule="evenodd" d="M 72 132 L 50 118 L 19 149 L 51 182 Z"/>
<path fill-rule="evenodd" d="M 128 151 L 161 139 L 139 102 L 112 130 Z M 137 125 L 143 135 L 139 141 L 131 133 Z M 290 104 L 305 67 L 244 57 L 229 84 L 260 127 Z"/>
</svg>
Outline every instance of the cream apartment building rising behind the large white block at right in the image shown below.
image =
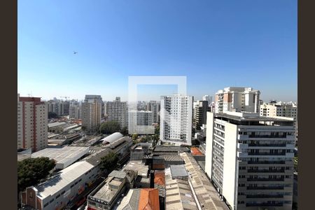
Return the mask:
<svg viewBox="0 0 315 210">
<path fill-rule="evenodd" d="M 227 111 L 259 112 L 259 90 L 251 87 L 225 87 L 216 92 L 215 113 Z"/>
</svg>

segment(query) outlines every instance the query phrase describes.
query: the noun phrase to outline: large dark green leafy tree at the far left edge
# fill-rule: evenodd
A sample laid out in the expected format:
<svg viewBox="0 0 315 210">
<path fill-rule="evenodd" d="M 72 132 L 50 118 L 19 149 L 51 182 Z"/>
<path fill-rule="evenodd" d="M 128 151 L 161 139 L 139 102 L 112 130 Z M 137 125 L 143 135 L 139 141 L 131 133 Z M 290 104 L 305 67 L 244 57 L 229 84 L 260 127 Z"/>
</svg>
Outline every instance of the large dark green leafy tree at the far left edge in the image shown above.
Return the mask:
<svg viewBox="0 0 315 210">
<path fill-rule="evenodd" d="M 18 162 L 18 192 L 45 179 L 55 165 L 55 160 L 49 158 L 27 158 Z"/>
</svg>

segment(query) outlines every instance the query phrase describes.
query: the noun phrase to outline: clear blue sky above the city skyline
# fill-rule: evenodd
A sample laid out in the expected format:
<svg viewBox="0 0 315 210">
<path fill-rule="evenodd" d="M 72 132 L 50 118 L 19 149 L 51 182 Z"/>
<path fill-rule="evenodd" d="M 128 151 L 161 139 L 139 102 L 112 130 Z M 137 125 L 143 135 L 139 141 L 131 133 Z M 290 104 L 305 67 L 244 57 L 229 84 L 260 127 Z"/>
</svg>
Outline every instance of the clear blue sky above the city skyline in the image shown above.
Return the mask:
<svg viewBox="0 0 315 210">
<path fill-rule="evenodd" d="M 297 1 L 18 1 L 21 95 L 127 100 L 128 76 L 187 76 L 195 99 L 240 86 L 296 101 Z"/>
</svg>

